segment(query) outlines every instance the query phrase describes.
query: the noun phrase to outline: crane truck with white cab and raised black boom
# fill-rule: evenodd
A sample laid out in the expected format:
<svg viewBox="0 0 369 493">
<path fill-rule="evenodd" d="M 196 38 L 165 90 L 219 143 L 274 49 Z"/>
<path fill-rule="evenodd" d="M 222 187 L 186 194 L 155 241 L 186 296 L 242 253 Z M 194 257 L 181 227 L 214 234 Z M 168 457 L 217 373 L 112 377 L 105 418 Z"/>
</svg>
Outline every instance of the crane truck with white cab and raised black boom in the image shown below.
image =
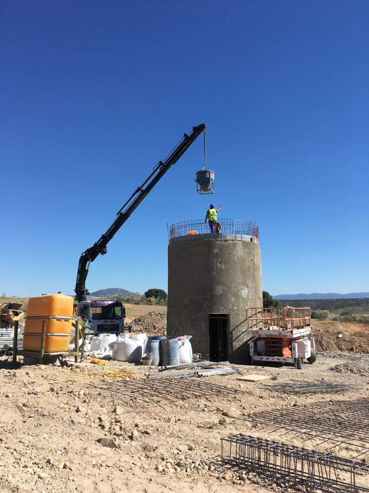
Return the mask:
<svg viewBox="0 0 369 493">
<path fill-rule="evenodd" d="M 75 284 L 75 300 L 78 302 L 77 315 L 86 321 L 86 326 L 90 328 L 90 333 L 121 333 L 124 331 L 125 307 L 119 300 L 87 300 L 89 294 L 86 288 L 86 279 L 90 268 L 90 263 L 101 254 L 107 253 L 107 245 L 114 238 L 120 227 L 127 221 L 138 205 L 150 193 L 158 181 L 167 173 L 178 159 L 186 152 L 197 137 L 206 132 L 206 125 L 203 123 L 193 127 L 190 135 L 184 134 L 182 140 L 170 152 L 164 161 L 159 161 L 154 167 L 148 178 L 136 188 L 127 202 L 122 205 L 116 214 L 114 222 L 100 238 L 83 252 L 79 258 L 77 279 Z M 204 139 L 204 143 L 205 143 Z M 88 324 L 87 324 L 88 322 Z"/>
</svg>

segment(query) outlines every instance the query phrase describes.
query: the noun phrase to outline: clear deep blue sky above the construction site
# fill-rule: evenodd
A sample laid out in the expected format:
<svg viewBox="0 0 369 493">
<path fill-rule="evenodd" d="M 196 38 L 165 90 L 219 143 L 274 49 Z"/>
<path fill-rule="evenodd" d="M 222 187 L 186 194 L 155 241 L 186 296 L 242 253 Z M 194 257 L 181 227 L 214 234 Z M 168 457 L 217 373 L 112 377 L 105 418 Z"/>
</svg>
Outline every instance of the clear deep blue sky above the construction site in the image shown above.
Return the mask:
<svg viewBox="0 0 369 493">
<path fill-rule="evenodd" d="M 193 125 L 221 215 L 256 219 L 272 294 L 369 291 L 367 0 L 2 0 L 0 291 L 73 293 L 78 258 Z M 167 289 L 203 218 L 201 138 L 91 265 Z M 221 217 L 220 215 L 220 217 Z"/>
</svg>

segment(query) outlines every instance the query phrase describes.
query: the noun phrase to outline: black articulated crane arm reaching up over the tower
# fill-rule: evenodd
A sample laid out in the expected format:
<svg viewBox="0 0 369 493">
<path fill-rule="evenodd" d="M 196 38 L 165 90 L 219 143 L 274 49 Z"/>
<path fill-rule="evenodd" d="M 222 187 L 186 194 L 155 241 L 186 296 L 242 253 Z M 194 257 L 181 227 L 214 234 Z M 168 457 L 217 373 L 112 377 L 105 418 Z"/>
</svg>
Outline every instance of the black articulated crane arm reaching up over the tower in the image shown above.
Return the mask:
<svg viewBox="0 0 369 493">
<path fill-rule="evenodd" d="M 139 186 L 127 202 L 117 212 L 117 217 L 113 224 L 109 227 L 108 231 L 104 233 L 97 241 L 88 248 L 79 258 L 77 279 L 75 285 L 75 299 L 79 302 L 86 299 L 88 290 L 85 283 L 87 274 L 90 267 L 90 262 L 93 262 L 95 258 L 101 254 L 107 253 L 107 244 L 114 237 L 115 233 L 120 227 L 127 221 L 133 211 L 138 205 L 145 199 L 149 192 L 154 188 L 156 183 L 162 178 L 168 171 L 168 169 L 175 164 L 178 159 L 186 152 L 190 145 L 197 139 L 197 137 L 206 131 L 206 125 L 203 123 L 193 127 L 190 135 L 185 134 L 179 144 L 171 151 L 165 161 L 159 161 L 153 169 L 151 175 Z"/>
</svg>

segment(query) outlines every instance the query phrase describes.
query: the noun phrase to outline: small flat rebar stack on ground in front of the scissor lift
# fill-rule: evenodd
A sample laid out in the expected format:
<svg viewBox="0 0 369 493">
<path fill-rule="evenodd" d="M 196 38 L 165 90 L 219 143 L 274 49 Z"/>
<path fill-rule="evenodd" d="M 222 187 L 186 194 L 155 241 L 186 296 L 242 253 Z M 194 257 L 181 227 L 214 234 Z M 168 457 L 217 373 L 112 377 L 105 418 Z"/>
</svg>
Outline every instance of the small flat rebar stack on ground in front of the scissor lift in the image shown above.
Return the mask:
<svg viewBox="0 0 369 493">
<path fill-rule="evenodd" d="M 317 394 L 317 393 L 335 393 L 348 392 L 355 390 L 359 386 L 348 384 L 347 382 L 298 382 L 286 384 L 263 385 L 264 389 L 274 392 L 285 392 L 293 394 Z"/>
</svg>

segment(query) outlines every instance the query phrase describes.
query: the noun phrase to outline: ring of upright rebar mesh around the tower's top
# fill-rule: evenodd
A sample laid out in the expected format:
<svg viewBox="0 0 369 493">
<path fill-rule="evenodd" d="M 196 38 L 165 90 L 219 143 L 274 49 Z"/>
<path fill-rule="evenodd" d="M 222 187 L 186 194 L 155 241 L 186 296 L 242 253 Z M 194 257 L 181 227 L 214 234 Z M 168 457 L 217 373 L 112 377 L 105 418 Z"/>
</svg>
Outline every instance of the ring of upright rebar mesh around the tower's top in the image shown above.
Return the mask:
<svg viewBox="0 0 369 493">
<path fill-rule="evenodd" d="M 205 223 L 203 219 L 187 220 L 186 217 L 181 222 L 175 220 L 171 226 L 168 226 L 167 223 L 167 229 L 169 240 L 178 236 L 211 233 L 208 222 Z M 256 225 L 255 221 L 219 218 L 216 223 L 216 231 L 221 234 L 247 235 L 259 239 L 259 226 Z"/>
</svg>

